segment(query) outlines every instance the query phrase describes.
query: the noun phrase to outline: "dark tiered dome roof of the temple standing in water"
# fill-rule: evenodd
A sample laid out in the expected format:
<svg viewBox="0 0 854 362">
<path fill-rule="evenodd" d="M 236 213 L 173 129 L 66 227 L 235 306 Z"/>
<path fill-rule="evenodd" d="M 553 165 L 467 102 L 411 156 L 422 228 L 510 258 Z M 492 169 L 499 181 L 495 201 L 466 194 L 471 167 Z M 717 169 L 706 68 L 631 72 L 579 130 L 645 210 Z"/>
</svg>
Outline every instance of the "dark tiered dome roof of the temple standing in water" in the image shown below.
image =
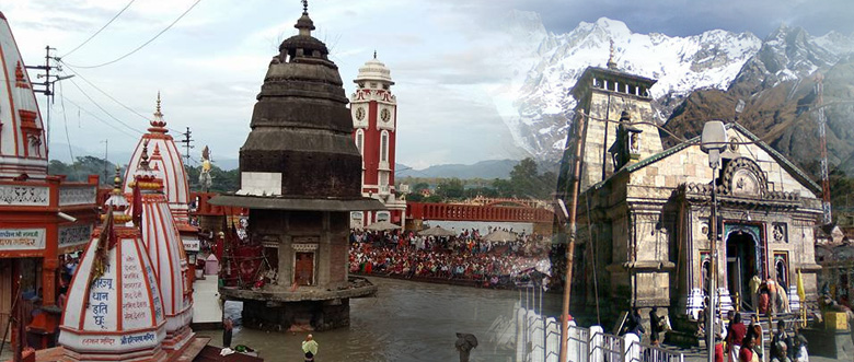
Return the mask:
<svg viewBox="0 0 854 362">
<path fill-rule="evenodd" d="M 282 42 L 269 63 L 240 150 L 238 195 L 361 198 L 348 100 L 326 46 L 311 36 L 313 26 L 303 11 L 299 35 Z"/>
</svg>

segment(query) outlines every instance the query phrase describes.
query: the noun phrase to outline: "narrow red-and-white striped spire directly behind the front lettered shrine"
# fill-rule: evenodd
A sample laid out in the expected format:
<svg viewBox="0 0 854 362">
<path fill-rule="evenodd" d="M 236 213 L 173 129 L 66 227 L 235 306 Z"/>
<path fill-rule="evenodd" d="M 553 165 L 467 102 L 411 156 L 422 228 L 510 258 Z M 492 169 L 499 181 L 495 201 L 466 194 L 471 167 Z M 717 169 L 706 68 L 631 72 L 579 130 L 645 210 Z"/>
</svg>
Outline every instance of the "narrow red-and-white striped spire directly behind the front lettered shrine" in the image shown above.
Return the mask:
<svg viewBox="0 0 854 362">
<path fill-rule="evenodd" d="M 178 350 L 191 339 L 189 322 L 193 317 L 193 301 L 187 279 L 186 259 L 177 226 L 172 218 L 166 197 L 163 195 L 163 179 L 151 170 L 148 157 L 148 142 L 143 142 L 139 165 L 134 174 L 139 189 L 134 196 L 131 208 L 141 210 L 140 225 L 142 242 L 151 258 L 158 277 L 158 288 L 163 299 L 166 317 L 166 338 L 163 348 Z M 139 197 L 139 200 L 136 198 Z M 132 211 L 132 210 L 131 210 Z M 132 212 L 131 212 L 132 214 Z"/>
</svg>

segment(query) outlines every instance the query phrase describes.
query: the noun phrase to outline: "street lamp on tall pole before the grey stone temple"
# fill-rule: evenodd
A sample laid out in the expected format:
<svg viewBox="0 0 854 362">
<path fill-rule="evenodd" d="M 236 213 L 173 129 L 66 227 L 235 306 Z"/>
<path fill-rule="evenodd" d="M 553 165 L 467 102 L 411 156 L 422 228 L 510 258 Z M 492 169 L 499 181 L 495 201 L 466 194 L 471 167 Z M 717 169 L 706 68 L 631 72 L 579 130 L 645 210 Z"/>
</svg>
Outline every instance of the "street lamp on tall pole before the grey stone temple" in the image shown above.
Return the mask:
<svg viewBox="0 0 854 362">
<path fill-rule="evenodd" d="M 720 120 L 711 120 L 703 126 L 700 138 L 700 149 L 708 154 L 708 166 L 712 167 L 712 268 L 708 278 L 708 315 L 706 316 L 706 347 L 708 362 L 715 362 L 715 308 L 717 304 L 717 168 L 720 166 L 720 151 L 727 147 L 727 129 Z"/>
</svg>

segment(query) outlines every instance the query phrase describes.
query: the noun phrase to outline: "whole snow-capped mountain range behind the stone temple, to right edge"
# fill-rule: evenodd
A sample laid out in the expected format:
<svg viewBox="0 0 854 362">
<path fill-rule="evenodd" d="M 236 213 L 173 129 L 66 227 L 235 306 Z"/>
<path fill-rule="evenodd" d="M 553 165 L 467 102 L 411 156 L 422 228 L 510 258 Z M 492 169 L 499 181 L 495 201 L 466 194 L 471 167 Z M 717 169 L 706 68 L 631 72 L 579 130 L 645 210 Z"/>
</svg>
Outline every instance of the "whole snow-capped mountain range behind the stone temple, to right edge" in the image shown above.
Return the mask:
<svg viewBox="0 0 854 362">
<path fill-rule="evenodd" d="M 753 94 L 826 69 L 854 49 L 854 39 L 845 35 L 811 37 L 786 26 L 762 40 L 722 30 L 686 37 L 638 34 L 607 17 L 554 34 L 527 12 L 512 13 L 506 23 L 512 75 L 492 95 L 517 145 L 547 161 L 559 157 L 566 140 L 575 107 L 569 90 L 587 67 L 605 66 L 611 42 L 620 70 L 658 80 L 650 91 L 659 122 L 695 90 L 727 91 L 741 78 L 758 82 L 743 90 Z"/>
</svg>

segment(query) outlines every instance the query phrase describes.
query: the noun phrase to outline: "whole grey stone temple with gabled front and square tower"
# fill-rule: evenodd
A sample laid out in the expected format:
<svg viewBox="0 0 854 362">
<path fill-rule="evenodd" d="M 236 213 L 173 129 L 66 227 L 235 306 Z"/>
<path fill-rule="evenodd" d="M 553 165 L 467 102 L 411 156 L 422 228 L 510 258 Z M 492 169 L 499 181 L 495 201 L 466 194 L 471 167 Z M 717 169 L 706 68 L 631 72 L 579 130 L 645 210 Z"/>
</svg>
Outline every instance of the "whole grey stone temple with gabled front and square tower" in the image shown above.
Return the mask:
<svg viewBox="0 0 854 362">
<path fill-rule="evenodd" d="M 801 307 L 817 301 L 813 229 L 821 191 L 804 172 L 737 122 L 714 179 L 718 199 L 718 268 L 711 270 L 713 172 L 700 138 L 665 150 L 649 89 L 655 80 L 590 67 L 572 91 L 576 118 L 562 161 L 558 197 L 570 197 L 570 166 L 581 142 L 574 314 L 603 318 L 632 306 L 669 311 L 690 330 L 717 276 L 720 308 L 753 311 L 749 282 L 773 279 Z M 663 133 L 662 133 L 663 135 Z M 598 290 L 598 293 L 597 293 Z M 661 313 L 661 312 L 659 312 Z M 591 315 L 591 314 L 588 314 Z M 694 325 L 695 326 L 695 325 Z"/>
</svg>

